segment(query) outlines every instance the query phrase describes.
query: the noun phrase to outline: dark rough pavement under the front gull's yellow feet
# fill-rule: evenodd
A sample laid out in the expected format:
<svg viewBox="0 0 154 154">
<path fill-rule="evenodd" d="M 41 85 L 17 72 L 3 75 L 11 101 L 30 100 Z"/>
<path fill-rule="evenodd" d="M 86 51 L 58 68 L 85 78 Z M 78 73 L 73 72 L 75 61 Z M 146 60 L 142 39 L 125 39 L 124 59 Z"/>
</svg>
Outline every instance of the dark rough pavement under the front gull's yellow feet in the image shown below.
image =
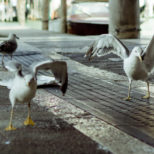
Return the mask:
<svg viewBox="0 0 154 154">
<path fill-rule="evenodd" d="M 56 117 L 45 107 L 31 103 L 34 127 L 26 127 L 27 105 L 16 104 L 13 125 L 17 129 L 7 132 L 11 105 L 8 90 L 0 87 L 0 153 L 1 154 L 109 154 L 103 147 L 83 135 L 72 125 Z M 102 149 L 101 149 L 102 147 Z"/>
</svg>

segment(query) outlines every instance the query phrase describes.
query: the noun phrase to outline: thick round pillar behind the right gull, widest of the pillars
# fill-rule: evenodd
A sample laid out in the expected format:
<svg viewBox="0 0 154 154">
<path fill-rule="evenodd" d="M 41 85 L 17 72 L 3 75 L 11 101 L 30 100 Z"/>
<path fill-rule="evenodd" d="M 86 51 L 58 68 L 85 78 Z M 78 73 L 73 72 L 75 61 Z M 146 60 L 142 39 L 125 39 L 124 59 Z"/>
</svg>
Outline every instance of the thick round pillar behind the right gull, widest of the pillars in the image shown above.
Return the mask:
<svg viewBox="0 0 154 154">
<path fill-rule="evenodd" d="M 139 0 L 110 0 L 109 33 L 118 38 L 140 36 Z"/>
</svg>

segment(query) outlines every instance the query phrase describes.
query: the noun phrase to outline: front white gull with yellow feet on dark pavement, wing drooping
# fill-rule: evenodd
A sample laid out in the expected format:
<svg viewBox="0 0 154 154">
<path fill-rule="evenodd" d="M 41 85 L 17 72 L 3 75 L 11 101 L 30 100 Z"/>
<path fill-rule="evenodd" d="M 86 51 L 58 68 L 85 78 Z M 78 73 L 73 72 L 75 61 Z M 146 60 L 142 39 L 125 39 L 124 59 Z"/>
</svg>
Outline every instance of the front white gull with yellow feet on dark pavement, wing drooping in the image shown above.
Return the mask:
<svg viewBox="0 0 154 154">
<path fill-rule="evenodd" d="M 13 108 L 16 102 L 28 103 L 28 116 L 24 121 L 24 125 L 34 125 L 35 123 L 30 116 L 30 102 L 35 97 L 37 90 L 37 72 L 38 70 L 51 70 L 64 95 L 67 90 L 68 75 L 67 64 L 64 61 L 46 60 L 41 62 L 34 62 L 24 74 L 22 65 L 16 61 L 9 61 L 5 67 L 10 72 L 15 72 L 15 77 L 12 80 L 12 86 L 9 92 L 9 100 L 12 105 L 10 122 L 6 131 L 16 130 L 12 125 Z"/>
</svg>

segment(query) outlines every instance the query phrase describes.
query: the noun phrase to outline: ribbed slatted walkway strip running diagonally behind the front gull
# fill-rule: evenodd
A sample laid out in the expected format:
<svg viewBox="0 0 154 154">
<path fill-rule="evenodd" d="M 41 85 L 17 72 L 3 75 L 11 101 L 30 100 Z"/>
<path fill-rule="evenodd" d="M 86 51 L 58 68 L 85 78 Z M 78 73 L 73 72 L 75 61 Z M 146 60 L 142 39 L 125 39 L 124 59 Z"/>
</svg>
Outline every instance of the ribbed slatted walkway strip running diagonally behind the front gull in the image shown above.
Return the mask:
<svg viewBox="0 0 154 154">
<path fill-rule="evenodd" d="M 8 59 L 8 57 L 6 57 Z M 28 67 L 33 61 L 44 59 L 40 53 L 17 55 L 14 59 Z M 128 87 L 105 82 L 95 77 L 74 74 L 69 76 L 69 86 L 65 97 L 57 87 L 45 88 L 54 95 L 90 112 L 132 135 L 154 146 L 154 99 L 141 99 L 140 92 L 133 92 L 131 102 L 123 101 Z M 119 91 L 117 93 L 117 91 Z"/>
</svg>

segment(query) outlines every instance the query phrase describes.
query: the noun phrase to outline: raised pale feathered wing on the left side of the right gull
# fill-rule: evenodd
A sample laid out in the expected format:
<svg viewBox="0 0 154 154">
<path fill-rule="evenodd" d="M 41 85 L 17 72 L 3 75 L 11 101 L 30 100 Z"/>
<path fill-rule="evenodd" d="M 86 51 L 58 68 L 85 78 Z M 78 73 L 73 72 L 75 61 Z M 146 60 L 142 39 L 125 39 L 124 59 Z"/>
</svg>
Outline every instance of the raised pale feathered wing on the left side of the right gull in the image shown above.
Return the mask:
<svg viewBox="0 0 154 154">
<path fill-rule="evenodd" d="M 89 59 L 95 55 L 101 57 L 111 52 L 122 59 L 127 58 L 130 54 L 127 47 L 118 38 L 111 34 L 103 34 L 92 43 L 85 57 L 89 56 Z"/>
</svg>

